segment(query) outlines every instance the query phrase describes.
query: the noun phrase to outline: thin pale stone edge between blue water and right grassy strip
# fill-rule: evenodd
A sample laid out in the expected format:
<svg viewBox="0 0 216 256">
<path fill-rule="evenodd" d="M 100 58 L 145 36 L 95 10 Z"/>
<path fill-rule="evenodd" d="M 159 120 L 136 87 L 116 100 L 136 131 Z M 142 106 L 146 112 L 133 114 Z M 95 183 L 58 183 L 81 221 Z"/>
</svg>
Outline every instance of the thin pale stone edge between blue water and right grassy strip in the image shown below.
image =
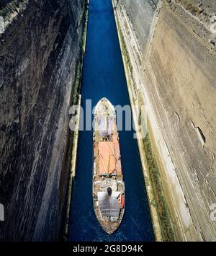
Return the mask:
<svg viewBox="0 0 216 256">
<path fill-rule="evenodd" d="M 133 97 L 132 97 L 132 92 L 131 92 L 131 89 L 130 89 L 130 77 L 128 76 L 128 73 L 127 73 L 128 65 L 127 65 L 127 60 L 125 58 L 125 55 L 123 53 L 122 37 L 120 35 L 121 28 L 120 28 L 119 23 L 118 23 L 117 12 L 116 12 L 115 7 L 114 7 L 115 6 L 114 0 L 112 0 L 112 6 L 113 6 L 114 19 L 115 19 L 115 22 L 116 22 L 117 33 L 118 33 L 119 42 L 120 42 L 120 49 L 121 49 L 121 52 L 122 52 L 122 60 L 123 60 L 124 68 L 125 68 L 125 76 L 126 76 L 126 80 L 127 80 L 127 89 L 128 89 L 128 93 L 129 93 L 129 97 L 130 97 L 131 107 L 132 107 L 132 116 L 133 116 L 133 120 L 134 120 L 134 123 L 135 123 L 136 131 L 138 133 L 138 138 L 137 138 L 138 148 L 139 148 L 139 151 L 140 151 L 140 159 L 141 159 L 143 175 L 144 175 L 144 179 L 145 179 L 145 187 L 146 187 L 146 191 L 147 191 L 147 195 L 148 195 L 148 205 L 149 205 L 149 208 L 150 208 L 150 215 L 151 215 L 152 222 L 153 222 L 153 230 L 154 230 L 154 234 L 155 234 L 155 237 L 156 237 L 156 241 L 162 242 L 163 238 L 162 238 L 162 234 L 161 234 L 162 232 L 161 232 L 161 225 L 160 225 L 160 222 L 159 222 L 159 219 L 158 219 L 158 213 L 156 211 L 156 207 L 153 206 L 152 203 L 150 203 L 154 200 L 153 187 L 150 183 L 150 175 L 149 175 L 149 172 L 148 172 L 148 167 L 146 166 L 145 151 L 143 149 L 143 141 L 142 141 L 142 139 L 139 139 L 141 133 L 140 133 L 140 129 L 138 129 L 138 116 L 137 116 L 137 113 L 135 111 L 135 106 L 133 104 Z"/>
</svg>

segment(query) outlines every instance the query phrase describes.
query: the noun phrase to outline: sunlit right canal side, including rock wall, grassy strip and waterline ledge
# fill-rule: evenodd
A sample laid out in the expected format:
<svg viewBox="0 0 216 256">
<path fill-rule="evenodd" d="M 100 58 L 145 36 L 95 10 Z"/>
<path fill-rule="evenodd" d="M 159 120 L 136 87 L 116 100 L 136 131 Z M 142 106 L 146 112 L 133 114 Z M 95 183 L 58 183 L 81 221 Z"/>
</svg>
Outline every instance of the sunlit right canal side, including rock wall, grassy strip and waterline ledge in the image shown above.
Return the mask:
<svg viewBox="0 0 216 256">
<path fill-rule="evenodd" d="M 156 239 L 214 241 L 215 2 L 113 5 Z"/>
</svg>

